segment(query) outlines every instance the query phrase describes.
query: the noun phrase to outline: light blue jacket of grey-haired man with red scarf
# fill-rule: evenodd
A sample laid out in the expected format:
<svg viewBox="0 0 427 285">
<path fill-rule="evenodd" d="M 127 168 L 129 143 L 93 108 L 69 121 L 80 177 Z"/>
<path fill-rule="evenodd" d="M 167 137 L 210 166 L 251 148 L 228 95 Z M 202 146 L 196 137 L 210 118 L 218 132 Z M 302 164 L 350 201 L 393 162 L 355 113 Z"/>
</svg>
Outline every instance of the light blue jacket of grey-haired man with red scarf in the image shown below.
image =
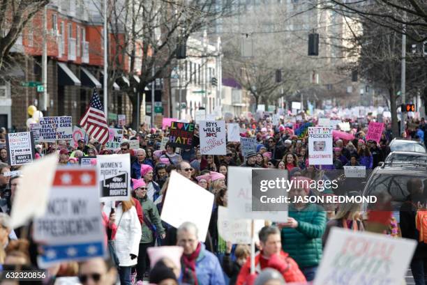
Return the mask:
<svg viewBox="0 0 427 285">
<path fill-rule="evenodd" d="M 182 270 L 184 269 L 181 265 Z M 181 284 L 183 271 L 179 277 L 179 284 Z M 202 249 L 196 260 L 196 275 L 197 283 L 199 285 L 225 285 L 223 269 L 215 254 L 208 252 L 202 243 Z"/>
</svg>

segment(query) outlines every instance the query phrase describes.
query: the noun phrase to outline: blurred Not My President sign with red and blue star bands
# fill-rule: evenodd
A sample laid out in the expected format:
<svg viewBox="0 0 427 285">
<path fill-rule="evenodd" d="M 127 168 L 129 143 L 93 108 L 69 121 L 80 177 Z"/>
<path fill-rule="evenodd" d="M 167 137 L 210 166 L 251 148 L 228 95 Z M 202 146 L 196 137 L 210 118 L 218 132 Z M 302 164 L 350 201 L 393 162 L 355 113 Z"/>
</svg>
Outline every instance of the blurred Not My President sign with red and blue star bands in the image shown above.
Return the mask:
<svg viewBox="0 0 427 285">
<path fill-rule="evenodd" d="M 105 255 L 96 169 L 57 169 L 47 210 L 34 219 L 33 238 L 43 242 L 38 265 Z"/>
</svg>

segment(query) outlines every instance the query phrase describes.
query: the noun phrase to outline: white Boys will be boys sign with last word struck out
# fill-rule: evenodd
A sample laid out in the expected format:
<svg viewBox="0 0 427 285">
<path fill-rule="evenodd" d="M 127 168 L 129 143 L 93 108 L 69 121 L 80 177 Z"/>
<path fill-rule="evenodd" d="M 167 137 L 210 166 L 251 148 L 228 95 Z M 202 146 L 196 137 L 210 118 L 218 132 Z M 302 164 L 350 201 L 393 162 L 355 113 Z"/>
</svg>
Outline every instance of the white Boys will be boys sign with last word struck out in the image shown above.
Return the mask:
<svg viewBox="0 0 427 285">
<path fill-rule="evenodd" d="M 225 121 L 200 121 L 199 132 L 202 155 L 225 155 Z"/>
</svg>

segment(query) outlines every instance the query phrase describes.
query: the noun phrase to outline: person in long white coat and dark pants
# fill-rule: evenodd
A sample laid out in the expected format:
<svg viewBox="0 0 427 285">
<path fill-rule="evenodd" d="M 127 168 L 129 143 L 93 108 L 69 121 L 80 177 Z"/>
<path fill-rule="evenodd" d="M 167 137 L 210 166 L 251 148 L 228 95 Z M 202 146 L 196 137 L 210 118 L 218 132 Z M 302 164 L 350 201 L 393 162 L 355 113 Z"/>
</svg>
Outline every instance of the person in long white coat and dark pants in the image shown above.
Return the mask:
<svg viewBox="0 0 427 285">
<path fill-rule="evenodd" d="M 116 253 L 119 258 L 121 285 L 130 285 L 130 271 L 137 264 L 142 235 L 140 220 L 133 200 L 117 202 L 116 208 Z"/>
</svg>

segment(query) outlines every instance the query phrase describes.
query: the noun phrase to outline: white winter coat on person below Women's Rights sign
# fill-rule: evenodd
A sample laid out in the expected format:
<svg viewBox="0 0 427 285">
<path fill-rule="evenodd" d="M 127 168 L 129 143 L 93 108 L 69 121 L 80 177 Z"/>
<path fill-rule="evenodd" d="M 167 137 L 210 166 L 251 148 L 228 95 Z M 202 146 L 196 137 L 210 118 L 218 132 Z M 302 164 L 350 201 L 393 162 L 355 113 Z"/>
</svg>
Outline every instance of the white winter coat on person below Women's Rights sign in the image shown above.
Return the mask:
<svg viewBox="0 0 427 285">
<path fill-rule="evenodd" d="M 116 208 L 117 232 L 115 236 L 116 254 L 120 266 L 133 266 L 137 259 L 130 259 L 130 254 L 138 255 L 140 250 L 141 224 L 134 206 L 123 213 L 121 203 Z"/>
</svg>

